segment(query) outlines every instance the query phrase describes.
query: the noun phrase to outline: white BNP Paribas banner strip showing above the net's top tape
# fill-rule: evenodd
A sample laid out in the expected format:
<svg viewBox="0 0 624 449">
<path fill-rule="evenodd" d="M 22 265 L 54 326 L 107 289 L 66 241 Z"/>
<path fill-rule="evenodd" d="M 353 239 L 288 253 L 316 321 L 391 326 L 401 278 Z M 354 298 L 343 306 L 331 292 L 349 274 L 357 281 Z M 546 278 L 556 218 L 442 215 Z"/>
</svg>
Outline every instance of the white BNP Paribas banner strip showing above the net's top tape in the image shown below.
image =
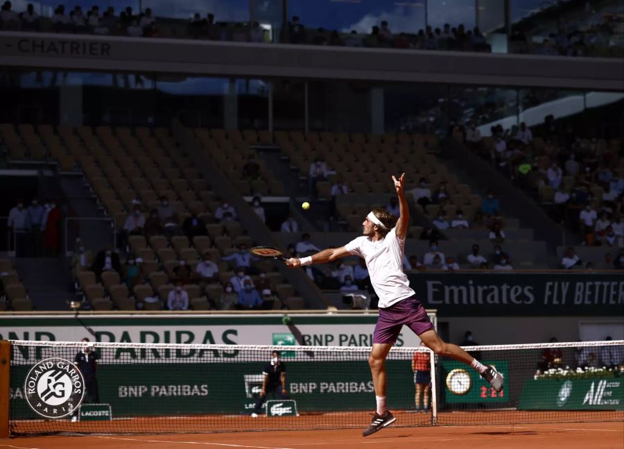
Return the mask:
<svg viewBox="0 0 624 449">
<path fill-rule="evenodd" d="M 436 325 L 435 313 L 429 317 Z M 3 316 L 0 339 L 115 343 L 263 344 L 300 346 L 371 346 L 377 321 L 370 314 L 290 315 L 87 315 Z M 417 346 L 408 328 L 397 346 Z M 32 350 L 30 357 L 40 351 Z M 136 357 L 141 358 L 141 352 Z M 28 359 L 28 355 L 25 356 Z"/>
</svg>

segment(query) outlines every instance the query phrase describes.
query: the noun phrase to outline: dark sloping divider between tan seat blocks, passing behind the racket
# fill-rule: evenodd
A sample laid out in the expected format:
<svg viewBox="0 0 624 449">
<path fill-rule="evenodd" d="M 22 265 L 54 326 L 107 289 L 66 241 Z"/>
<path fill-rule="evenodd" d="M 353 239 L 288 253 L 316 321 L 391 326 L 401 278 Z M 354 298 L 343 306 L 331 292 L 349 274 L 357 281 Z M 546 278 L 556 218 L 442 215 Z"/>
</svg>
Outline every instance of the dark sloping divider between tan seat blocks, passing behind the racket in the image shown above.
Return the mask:
<svg viewBox="0 0 624 449">
<path fill-rule="evenodd" d="M 250 205 L 243 196 L 236 193 L 232 180 L 224 176 L 215 164 L 211 164 L 208 158 L 202 154 L 202 149 L 193 138 L 193 131 L 185 128 L 180 121 L 172 121 L 172 131 L 175 139 L 182 147 L 183 151 L 189 155 L 194 166 L 200 170 L 205 179 L 211 180 L 214 192 L 221 198 L 227 198 L 229 204 L 233 205 L 239 213 L 239 221 L 243 228 L 247 229 L 250 237 L 256 242 L 266 242 L 267 245 L 279 246 L 275 242 L 269 228 L 263 225 L 258 216 L 254 213 Z M 324 301 L 322 292 L 312 282 L 302 270 L 291 270 L 285 264 L 275 262 L 278 265 L 279 273 L 286 281 L 293 286 L 297 294 L 304 300 L 306 309 L 325 309 L 327 304 Z"/>
</svg>

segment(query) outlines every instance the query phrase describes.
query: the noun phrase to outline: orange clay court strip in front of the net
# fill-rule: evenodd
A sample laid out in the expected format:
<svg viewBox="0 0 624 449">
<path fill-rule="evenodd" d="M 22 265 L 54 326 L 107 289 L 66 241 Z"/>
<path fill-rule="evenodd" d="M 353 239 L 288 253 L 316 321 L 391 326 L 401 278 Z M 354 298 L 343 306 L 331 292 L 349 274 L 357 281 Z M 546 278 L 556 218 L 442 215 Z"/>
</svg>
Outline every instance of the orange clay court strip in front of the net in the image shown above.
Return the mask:
<svg viewBox="0 0 624 449">
<path fill-rule="evenodd" d="M 0 439 L 0 448 L 614 448 L 624 447 L 624 423 L 563 423 L 388 427 L 363 438 L 361 430 L 293 430 L 220 434 L 153 434 L 19 437 Z"/>
</svg>

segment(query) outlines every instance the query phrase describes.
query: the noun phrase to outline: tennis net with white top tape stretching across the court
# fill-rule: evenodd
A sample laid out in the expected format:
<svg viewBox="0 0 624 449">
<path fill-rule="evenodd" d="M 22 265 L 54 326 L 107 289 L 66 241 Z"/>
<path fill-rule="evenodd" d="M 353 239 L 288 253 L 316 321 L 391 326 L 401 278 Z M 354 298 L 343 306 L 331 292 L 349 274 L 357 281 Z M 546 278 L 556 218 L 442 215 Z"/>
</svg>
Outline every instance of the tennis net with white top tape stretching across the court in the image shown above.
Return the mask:
<svg viewBox="0 0 624 449">
<path fill-rule="evenodd" d="M 375 406 L 364 347 L 58 341 L 0 347 L 3 359 L 10 357 L 10 385 L 0 382 L 0 395 L 8 401 L 11 434 L 363 428 Z M 467 350 L 505 375 L 502 391 L 427 348 L 390 351 L 394 425 L 624 419 L 624 341 Z M 416 403 L 415 382 L 426 393 L 428 379 L 413 368 L 426 371 L 428 360 L 432 392 Z"/>
</svg>

